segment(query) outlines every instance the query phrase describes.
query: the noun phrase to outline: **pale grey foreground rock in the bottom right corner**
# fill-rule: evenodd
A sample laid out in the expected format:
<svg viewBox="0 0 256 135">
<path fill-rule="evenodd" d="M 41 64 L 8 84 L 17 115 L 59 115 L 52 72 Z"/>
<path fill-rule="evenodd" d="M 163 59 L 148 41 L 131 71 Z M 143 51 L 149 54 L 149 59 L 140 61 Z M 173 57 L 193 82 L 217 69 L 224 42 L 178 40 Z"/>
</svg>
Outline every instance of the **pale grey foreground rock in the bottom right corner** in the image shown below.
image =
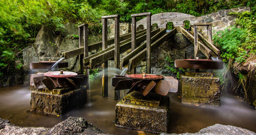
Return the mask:
<svg viewBox="0 0 256 135">
<path fill-rule="evenodd" d="M 212 126 L 208 126 L 206 128 L 201 129 L 196 133 L 181 133 L 182 135 L 255 135 L 256 133 L 241 127 L 231 126 L 231 125 L 222 125 L 222 124 L 215 124 Z M 181 135 L 180 134 L 180 135 Z M 176 133 L 161 133 L 160 135 L 178 135 Z"/>
</svg>

